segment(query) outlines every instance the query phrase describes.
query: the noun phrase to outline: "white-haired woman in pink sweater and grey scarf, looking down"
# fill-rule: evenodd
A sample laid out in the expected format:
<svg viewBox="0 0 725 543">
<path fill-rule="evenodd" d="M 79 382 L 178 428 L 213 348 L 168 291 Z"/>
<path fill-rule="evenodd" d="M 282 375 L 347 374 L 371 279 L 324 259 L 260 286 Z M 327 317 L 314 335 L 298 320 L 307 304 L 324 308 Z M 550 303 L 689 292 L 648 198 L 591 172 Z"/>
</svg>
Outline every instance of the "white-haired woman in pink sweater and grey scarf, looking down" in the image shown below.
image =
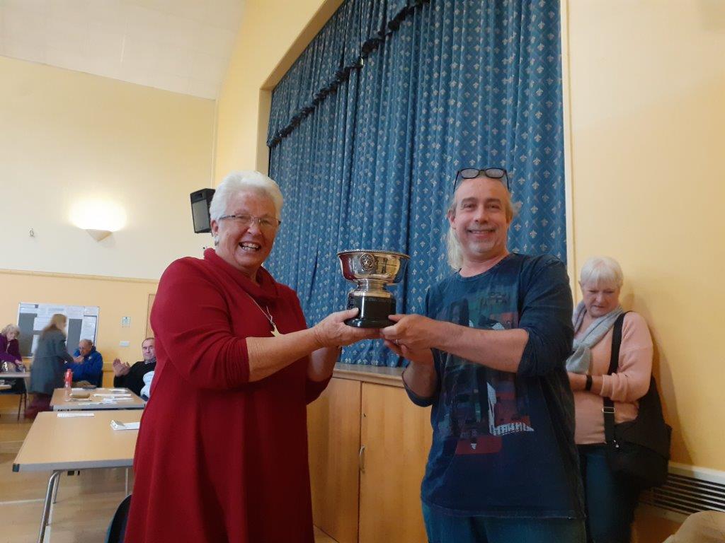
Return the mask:
<svg viewBox="0 0 725 543">
<path fill-rule="evenodd" d="M 638 401 L 650 387 L 653 344 L 638 313 L 624 313 L 619 293 L 624 277 L 613 258 L 589 258 L 581 268 L 583 300 L 574 309 L 573 354 L 566 367 L 574 394 L 581 476 L 587 503 L 587 536 L 595 543 L 629 543 L 639 489 L 613 473 L 605 451 L 602 398 L 614 403 L 616 424 L 637 418 Z M 613 329 L 621 322 L 618 364 L 608 374 Z"/>
</svg>

